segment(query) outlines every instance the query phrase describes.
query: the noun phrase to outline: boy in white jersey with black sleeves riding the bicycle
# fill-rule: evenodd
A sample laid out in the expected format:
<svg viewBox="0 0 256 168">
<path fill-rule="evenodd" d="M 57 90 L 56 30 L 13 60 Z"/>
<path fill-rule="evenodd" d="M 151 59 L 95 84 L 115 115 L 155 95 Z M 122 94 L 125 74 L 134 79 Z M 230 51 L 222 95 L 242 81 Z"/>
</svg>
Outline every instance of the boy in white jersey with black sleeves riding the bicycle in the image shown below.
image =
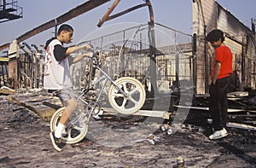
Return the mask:
<svg viewBox="0 0 256 168">
<path fill-rule="evenodd" d="M 63 43 L 71 43 L 72 39 L 73 27 L 64 24 L 58 29 L 57 37 L 50 38 L 45 44 L 47 62 L 44 72 L 44 89 L 54 90 L 63 106 L 66 107 L 56 129 L 49 134 L 51 142 L 57 151 L 61 151 L 65 145 L 65 142 L 61 140 L 61 134 L 65 129 L 69 116 L 77 107 L 69 65 L 92 55 L 92 52 L 87 51 L 84 55 L 79 55 L 74 59 L 69 56 L 80 49 L 91 49 L 90 44 L 73 47 L 63 46 Z"/>
</svg>

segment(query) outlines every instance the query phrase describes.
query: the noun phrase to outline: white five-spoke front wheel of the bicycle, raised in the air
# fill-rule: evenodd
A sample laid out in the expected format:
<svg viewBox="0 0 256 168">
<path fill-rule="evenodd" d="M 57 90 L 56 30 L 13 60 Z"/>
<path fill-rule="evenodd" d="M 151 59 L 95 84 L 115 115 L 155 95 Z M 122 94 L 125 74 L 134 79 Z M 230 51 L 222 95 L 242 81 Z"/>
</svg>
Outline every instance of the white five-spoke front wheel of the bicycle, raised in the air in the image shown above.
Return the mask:
<svg viewBox="0 0 256 168">
<path fill-rule="evenodd" d="M 146 92 L 143 84 L 136 78 L 123 77 L 114 81 L 127 96 L 122 94 L 118 88 L 111 84 L 108 91 L 108 101 L 119 113 L 136 113 L 145 102 Z"/>
</svg>

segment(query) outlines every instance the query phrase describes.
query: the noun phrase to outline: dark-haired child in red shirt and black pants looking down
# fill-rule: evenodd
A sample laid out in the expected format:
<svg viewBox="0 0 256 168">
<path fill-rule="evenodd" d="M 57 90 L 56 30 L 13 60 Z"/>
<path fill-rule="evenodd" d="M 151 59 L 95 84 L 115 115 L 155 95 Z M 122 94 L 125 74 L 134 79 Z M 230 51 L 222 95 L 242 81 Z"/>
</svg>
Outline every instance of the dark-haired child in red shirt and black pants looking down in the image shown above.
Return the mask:
<svg viewBox="0 0 256 168">
<path fill-rule="evenodd" d="M 209 139 L 215 140 L 228 135 L 227 124 L 228 100 L 232 73 L 232 53 L 224 44 L 224 32 L 215 29 L 207 35 L 207 41 L 215 49 L 212 66 L 212 84 L 210 85 L 209 110 L 212 116 L 213 133 Z"/>
</svg>

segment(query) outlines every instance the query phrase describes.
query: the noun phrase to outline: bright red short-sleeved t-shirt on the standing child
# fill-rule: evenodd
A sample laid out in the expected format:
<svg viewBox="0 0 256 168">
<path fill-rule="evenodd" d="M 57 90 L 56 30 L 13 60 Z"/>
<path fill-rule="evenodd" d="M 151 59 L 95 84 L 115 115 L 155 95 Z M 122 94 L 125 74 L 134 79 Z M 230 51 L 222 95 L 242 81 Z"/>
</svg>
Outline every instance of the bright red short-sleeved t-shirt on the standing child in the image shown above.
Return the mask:
<svg viewBox="0 0 256 168">
<path fill-rule="evenodd" d="M 223 45 L 215 49 L 215 58 L 213 61 L 213 68 L 212 68 L 212 78 L 215 72 L 216 61 L 221 63 L 218 78 L 224 78 L 224 77 L 230 76 L 230 74 L 233 71 L 232 70 L 232 53 L 230 51 L 230 48 Z"/>
</svg>

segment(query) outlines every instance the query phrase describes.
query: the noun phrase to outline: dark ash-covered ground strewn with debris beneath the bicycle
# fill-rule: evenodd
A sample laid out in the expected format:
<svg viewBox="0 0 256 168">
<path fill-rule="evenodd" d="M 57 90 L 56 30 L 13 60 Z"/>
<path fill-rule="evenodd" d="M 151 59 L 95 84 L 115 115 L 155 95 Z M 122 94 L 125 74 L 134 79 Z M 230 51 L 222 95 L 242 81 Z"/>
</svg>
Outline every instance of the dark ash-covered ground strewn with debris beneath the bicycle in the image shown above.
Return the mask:
<svg viewBox="0 0 256 168">
<path fill-rule="evenodd" d="M 0 167 L 161 168 L 175 167 L 178 156 L 186 167 L 256 167 L 255 130 L 228 128 L 229 136 L 210 141 L 211 125 L 198 122 L 207 119 L 207 112 L 190 112 L 189 120 L 172 135 L 153 121 L 144 124 L 154 128 L 154 142 L 137 136 L 148 135 L 147 127 L 139 127 L 144 117 L 103 116 L 89 125 L 84 140 L 67 145 L 62 152 L 51 145 L 49 122 L 36 113 L 10 104 L 7 96 L 0 96 L 0 113 Z M 247 118 L 255 121 L 255 115 Z M 109 134 L 97 125 L 113 131 Z M 116 142 L 121 145 L 113 145 Z"/>
</svg>

